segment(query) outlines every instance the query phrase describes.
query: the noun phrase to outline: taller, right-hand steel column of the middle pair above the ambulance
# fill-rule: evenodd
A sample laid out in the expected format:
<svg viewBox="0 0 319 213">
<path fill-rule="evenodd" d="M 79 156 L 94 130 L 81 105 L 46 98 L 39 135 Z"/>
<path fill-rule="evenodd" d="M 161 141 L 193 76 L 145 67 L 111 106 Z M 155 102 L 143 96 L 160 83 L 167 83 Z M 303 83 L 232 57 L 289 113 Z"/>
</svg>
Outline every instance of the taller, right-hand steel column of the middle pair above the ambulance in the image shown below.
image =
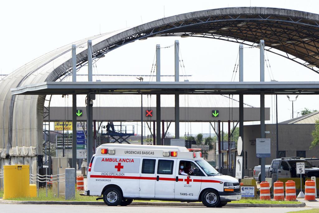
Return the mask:
<svg viewBox="0 0 319 213">
<path fill-rule="evenodd" d="M 175 81 L 179 81 L 179 41 L 175 40 Z M 179 138 L 179 93 L 175 93 L 175 138 Z"/>
</svg>

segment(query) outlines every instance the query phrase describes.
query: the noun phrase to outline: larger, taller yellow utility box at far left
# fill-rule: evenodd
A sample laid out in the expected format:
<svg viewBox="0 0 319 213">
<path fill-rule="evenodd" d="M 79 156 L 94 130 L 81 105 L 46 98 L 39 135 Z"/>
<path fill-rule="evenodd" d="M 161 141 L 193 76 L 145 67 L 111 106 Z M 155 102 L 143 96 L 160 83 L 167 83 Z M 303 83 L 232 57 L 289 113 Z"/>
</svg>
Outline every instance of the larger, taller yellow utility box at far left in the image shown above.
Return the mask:
<svg viewBox="0 0 319 213">
<path fill-rule="evenodd" d="M 29 165 L 6 165 L 3 199 L 29 197 Z"/>
</svg>

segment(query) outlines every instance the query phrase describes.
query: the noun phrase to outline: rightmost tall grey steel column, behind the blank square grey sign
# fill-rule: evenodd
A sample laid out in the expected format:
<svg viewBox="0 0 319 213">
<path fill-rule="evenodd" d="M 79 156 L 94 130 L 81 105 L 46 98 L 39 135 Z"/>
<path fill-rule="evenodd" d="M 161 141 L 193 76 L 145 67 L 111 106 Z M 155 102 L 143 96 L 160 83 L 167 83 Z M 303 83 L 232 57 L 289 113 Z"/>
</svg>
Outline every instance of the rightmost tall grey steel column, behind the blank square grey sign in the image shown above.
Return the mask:
<svg viewBox="0 0 319 213">
<path fill-rule="evenodd" d="M 260 40 L 260 81 L 265 81 L 265 42 Z M 265 138 L 265 93 L 260 93 L 260 138 Z M 265 181 L 265 158 L 261 158 L 261 181 Z"/>
</svg>

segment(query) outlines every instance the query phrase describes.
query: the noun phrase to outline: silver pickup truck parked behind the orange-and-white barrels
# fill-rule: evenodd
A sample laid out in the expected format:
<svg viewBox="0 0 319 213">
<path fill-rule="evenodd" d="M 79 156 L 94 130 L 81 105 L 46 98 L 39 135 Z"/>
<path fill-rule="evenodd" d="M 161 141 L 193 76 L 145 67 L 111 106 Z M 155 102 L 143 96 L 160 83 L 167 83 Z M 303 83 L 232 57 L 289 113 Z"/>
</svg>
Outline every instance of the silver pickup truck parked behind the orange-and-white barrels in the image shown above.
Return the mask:
<svg viewBox="0 0 319 213">
<path fill-rule="evenodd" d="M 282 157 L 278 159 L 273 159 L 270 165 L 266 165 L 266 178 L 271 178 L 272 174 L 277 174 L 278 178 L 296 178 L 300 177 L 296 175 L 296 177 L 291 177 L 290 169 L 292 167 L 296 168 L 297 162 L 305 162 L 305 177 L 319 177 L 319 168 L 314 167 L 305 159 L 300 159 L 300 157 Z M 257 181 L 261 181 L 261 166 L 255 166 L 253 171 L 254 179 Z"/>
</svg>

